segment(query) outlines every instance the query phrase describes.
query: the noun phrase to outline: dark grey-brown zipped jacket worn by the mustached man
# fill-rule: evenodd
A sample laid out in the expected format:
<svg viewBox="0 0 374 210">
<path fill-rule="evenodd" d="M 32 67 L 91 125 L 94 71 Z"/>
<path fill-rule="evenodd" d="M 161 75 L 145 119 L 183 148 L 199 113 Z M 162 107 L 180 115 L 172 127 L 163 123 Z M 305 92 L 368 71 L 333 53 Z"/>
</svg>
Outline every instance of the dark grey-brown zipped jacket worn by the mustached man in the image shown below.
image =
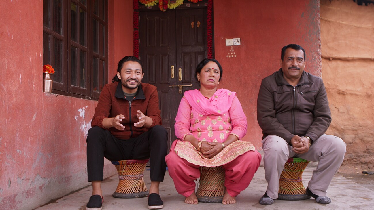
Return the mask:
<svg viewBox="0 0 374 210">
<path fill-rule="evenodd" d="M 331 112 L 322 78 L 303 72 L 294 87 L 282 68 L 261 82 L 257 98 L 257 120 L 263 139 L 276 135 L 288 143 L 294 135 L 318 139 L 331 123 Z"/>
</svg>

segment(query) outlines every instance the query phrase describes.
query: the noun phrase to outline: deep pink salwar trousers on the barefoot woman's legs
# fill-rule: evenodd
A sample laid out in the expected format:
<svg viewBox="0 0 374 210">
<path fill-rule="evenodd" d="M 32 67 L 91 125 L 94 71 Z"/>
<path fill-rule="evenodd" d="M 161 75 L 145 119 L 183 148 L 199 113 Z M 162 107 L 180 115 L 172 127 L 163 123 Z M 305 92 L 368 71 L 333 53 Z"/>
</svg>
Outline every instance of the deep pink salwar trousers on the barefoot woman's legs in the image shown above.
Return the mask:
<svg viewBox="0 0 374 210">
<path fill-rule="evenodd" d="M 195 191 L 195 180 L 200 177 L 200 166 L 188 163 L 187 160 L 180 158 L 174 152 L 176 143 L 177 141 L 175 140 L 165 160 L 168 164 L 169 175 L 174 181 L 175 189 L 177 189 L 179 194 L 188 197 Z M 260 153 L 248 151 L 222 166 L 226 175 L 225 187 L 231 197 L 239 195 L 241 191 L 249 186 L 260 166 L 260 162 Z"/>
</svg>

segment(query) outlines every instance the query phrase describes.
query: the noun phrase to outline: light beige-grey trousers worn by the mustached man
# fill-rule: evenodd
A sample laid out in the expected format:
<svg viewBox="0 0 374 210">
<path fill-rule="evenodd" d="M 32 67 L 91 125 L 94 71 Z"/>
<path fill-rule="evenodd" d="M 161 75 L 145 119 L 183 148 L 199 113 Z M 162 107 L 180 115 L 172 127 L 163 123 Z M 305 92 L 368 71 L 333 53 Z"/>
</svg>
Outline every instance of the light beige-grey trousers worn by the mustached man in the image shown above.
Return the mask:
<svg viewBox="0 0 374 210">
<path fill-rule="evenodd" d="M 316 195 L 325 196 L 332 177 L 338 171 L 346 153 L 346 143 L 341 138 L 326 134 L 314 140 L 309 151 L 301 155 L 293 152 L 292 146 L 279 136 L 266 136 L 262 143 L 267 181 L 266 192 L 273 199 L 278 198 L 279 178 L 288 158 L 299 157 L 309 161 L 318 161 L 308 188 Z"/>
</svg>

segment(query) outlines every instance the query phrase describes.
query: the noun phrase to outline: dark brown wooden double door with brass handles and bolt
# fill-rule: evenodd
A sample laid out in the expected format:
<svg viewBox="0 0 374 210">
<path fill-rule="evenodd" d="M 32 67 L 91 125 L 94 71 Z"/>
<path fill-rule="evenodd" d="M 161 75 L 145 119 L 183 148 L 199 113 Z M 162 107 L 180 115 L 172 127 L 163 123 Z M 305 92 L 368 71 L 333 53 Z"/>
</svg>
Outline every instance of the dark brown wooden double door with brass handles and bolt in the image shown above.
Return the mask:
<svg viewBox="0 0 374 210">
<path fill-rule="evenodd" d="M 183 93 L 199 89 L 194 75 L 197 64 L 208 54 L 206 15 L 206 7 L 139 12 L 142 81 L 157 87 L 162 125 L 169 134 L 168 151 L 176 139 L 175 116 Z"/>
</svg>

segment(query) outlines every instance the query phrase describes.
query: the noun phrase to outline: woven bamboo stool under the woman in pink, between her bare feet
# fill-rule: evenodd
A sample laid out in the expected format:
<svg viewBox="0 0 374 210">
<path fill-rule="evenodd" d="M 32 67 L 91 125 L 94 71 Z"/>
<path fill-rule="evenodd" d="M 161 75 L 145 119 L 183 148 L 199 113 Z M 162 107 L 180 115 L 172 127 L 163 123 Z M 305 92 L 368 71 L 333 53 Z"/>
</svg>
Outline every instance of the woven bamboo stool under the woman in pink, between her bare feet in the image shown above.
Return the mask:
<svg viewBox="0 0 374 210">
<path fill-rule="evenodd" d="M 196 197 L 202 203 L 222 203 L 225 192 L 225 170 L 222 166 L 199 167 L 200 180 Z"/>
</svg>

